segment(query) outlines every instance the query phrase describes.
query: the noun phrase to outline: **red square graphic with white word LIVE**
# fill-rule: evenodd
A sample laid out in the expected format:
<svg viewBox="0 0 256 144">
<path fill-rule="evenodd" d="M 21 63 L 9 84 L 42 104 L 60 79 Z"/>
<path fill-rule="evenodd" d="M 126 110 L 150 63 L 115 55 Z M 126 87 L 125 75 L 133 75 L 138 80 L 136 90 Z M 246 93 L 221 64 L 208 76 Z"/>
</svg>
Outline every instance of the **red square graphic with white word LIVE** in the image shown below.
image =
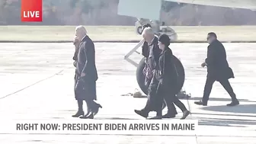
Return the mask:
<svg viewBox="0 0 256 144">
<path fill-rule="evenodd" d="M 42 22 L 43 5 L 42 0 L 21 0 L 21 21 Z"/>
</svg>

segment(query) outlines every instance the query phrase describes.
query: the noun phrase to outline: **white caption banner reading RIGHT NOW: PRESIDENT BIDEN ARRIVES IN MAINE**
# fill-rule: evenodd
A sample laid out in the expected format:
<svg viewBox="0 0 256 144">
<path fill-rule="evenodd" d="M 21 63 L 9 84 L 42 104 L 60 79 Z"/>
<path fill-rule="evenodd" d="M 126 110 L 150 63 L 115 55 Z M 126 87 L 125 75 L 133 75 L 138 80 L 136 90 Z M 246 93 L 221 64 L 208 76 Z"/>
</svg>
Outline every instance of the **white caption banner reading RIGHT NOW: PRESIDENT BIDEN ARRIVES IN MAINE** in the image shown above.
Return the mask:
<svg viewBox="0 0 256 144">
<path fill-rule="evenodd" d="M 198 120 L 9 120 L 0 133 L 195 135 Z"/>
</svg>

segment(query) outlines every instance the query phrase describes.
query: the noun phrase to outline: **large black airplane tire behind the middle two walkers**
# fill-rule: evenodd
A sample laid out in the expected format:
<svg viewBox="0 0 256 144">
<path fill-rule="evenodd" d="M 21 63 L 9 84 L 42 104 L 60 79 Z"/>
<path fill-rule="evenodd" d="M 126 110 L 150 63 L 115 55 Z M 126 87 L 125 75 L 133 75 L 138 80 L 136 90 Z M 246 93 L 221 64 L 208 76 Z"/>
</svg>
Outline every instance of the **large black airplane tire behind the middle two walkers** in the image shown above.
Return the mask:
<svg viewBox="0 0 256 144">
<path fill-rule="evenodd" d="M 178 94 L 179 91 L 181 91 L 181 88 L 184 85 L 185 82 L 185 70 L 184 67 L 181 63 L 181 61 L 174 56 L 174 63 L 176 66 L 176 69 L 178 71 L 178 87 L 175 89 L 176 94 Z M 139 85 L 139 88 L 145 93 L 148 94 L 148 85 L 145 85 L 145 75 L 143 74 L 143 69 L 145 67 L 145 60 L 144 58 L 141 59 L 141 61 L 139 62 L 139 66 L 137 67 L 136 70 L 136 79 Z"/>
</svg>

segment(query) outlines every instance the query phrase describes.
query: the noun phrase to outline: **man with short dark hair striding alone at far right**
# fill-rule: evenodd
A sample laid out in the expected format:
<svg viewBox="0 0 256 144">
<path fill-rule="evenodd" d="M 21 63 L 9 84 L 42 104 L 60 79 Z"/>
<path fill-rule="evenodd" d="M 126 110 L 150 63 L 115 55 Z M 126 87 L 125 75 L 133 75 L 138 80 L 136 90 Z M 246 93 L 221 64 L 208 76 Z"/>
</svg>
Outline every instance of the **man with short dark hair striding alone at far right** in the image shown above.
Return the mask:
<svg viewBox="0 0 256 144">
<path fill-rule="evenodd" d="M 229 78 L 235 78 L 235 76 L 226 59 L 226 50 L 222 43 L 217 40 L 217 36 L 213 32 L 207 35 L 207 41 L 210 44 L 207 50 L 207 58 L 201 65 L 202 67 L 207 66 L 208 72 L 203 91 L 203 99 L 194 103 L 206 106 L 213 88 L 213 83 L 217 81 L 226 89 L 232 98 L 232 102 L 227 104 L 227 106 L 238 105 L 239 101 L 229 83 Z"/>
</svg>

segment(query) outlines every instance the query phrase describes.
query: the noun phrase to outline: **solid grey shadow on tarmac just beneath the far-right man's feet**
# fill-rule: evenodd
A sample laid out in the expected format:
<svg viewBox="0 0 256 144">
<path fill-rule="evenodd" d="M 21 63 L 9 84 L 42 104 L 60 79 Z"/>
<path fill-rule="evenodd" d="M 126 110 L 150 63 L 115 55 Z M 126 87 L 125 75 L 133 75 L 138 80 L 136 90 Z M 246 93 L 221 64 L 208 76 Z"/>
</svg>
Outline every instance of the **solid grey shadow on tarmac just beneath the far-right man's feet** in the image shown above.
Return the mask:
<svg viewBox="0 0 256 144">
<path fill-rule="evenodd" d="M 229 112 L 229 113 L 246 113 L 256 114 L 256 104 L 240 104 L 235 107 L 227 107 L 226 105 L 201 107 L 202 110 Z"/>
</svg>

